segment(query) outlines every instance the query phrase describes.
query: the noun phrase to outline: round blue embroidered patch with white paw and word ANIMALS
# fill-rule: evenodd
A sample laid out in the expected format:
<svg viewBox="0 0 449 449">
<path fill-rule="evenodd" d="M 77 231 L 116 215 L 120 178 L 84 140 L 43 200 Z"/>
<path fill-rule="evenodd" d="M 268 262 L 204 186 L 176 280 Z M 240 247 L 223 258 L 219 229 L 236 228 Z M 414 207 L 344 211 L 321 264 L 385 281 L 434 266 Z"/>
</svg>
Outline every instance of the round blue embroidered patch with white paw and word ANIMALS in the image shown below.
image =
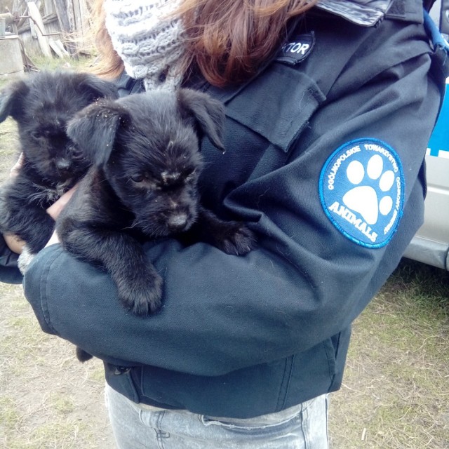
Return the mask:
<svg viewBox="0 0 449 449">
<path fill-rule="evenodd" d="M 367 248 L 381 248 L 402 216 L 401 161 L 381 140 L 352 140 L 326 161 L 319 193 L 326 215 L 344 236 Z"/>
</svg>

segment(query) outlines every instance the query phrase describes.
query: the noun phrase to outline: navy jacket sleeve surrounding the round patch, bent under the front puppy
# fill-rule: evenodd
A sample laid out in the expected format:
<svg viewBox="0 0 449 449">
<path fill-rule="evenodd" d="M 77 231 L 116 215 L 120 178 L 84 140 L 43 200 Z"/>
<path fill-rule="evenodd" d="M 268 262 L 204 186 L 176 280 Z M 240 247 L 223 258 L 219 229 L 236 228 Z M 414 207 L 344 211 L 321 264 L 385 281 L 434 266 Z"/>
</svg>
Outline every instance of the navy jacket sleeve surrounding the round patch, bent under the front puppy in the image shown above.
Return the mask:
<svg viewBox="0 0 449 449">
<path fill-rule="evenodd" d="M 361 67 L 337 80 L 285 165 L 225 197 L 250 222 L 257 249 L 236 257 L 205 243 L 147 243 L 164 295 L 161 311 L 142 318 L 121 307 L 107 274 L 51 246 L 25 276 L 43 330 L 110 363 L 221 375 L 297 354 L 349 326 L 422 224 L 420 170 L 440 102 L 429 55 L 369 78 Z M 387 142 L 403 166 L 403 215 L 382 248 L 348 239 L 319 199 L 326 161 L 359 138 Z"/>
</svg>

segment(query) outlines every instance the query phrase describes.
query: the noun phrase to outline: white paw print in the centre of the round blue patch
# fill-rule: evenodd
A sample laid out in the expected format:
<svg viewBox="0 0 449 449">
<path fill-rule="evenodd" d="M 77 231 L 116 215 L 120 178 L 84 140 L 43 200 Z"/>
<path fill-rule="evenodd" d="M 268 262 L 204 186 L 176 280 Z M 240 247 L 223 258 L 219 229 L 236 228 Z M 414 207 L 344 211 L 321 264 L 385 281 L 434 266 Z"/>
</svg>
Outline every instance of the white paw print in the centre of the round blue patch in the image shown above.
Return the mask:
<svg viewBox="0 0 449 449">
<path fill-rule="evenodd" d="M 363 217 L 368 225 L 375 225 L 379 214 L 388 215 L 393 208 L 393 198 L 388 194 L 394 185 L 394 171 L 384 170 L 384 161 L 380 154 L 374 154 L 368 160 L 366 169 L 360 161 L 351 161 L 346 175 L 352 188 L 344 194 L 343 203 Z M 368 177 L 370 184 L 361 185 Z"/>
</svg>

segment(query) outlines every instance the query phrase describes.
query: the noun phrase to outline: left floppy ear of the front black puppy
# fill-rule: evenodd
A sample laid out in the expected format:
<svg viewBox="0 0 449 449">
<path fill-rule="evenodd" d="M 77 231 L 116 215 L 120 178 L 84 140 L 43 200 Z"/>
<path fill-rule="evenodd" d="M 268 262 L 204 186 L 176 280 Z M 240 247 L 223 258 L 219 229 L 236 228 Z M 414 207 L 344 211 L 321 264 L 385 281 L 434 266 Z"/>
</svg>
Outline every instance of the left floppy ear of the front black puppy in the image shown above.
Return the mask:
<svg viewBox="0 0 449 449">
<path fill-rule="evenodd" d="M 67 135 L 89 161 L 103 167 L 114 149 L 117 131 L 128 121 L 126 109 L 112 100 L 99 100 L 67 123 Z"/>
</svg>

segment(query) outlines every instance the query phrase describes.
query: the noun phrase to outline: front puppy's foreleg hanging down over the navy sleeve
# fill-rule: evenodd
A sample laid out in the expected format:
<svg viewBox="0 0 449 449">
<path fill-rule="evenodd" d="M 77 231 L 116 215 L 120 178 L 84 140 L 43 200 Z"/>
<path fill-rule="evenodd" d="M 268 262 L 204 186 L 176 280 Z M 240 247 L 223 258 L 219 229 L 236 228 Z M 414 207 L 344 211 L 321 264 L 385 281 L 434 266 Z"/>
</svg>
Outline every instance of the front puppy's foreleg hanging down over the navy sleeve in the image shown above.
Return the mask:
<svg viewBox="0 0 449 449">
<path fill-rule="evenodd" d="M 100 264 L 116 283 L 126 309 L 147 315 L 161 307 L 162 279 L 142 246 L 121 232 L 75 227 L 59 228 L 62 246 L 77 257 Z"/>
</svg>

